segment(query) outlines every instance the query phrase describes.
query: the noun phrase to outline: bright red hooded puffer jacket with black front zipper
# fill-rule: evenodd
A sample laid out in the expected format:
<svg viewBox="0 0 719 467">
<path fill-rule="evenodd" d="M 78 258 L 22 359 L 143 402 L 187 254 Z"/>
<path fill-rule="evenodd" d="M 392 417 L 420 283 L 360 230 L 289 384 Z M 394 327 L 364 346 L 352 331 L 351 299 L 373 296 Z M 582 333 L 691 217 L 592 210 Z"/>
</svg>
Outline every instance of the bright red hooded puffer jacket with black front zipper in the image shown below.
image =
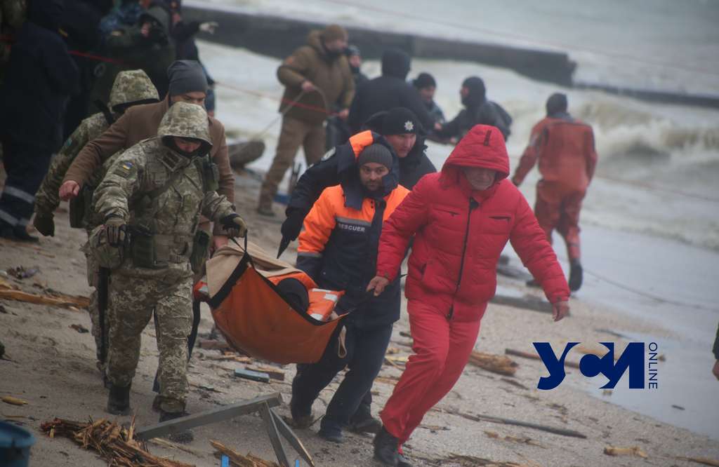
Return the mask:
<svg viewBox="0 0 719 467">
<path fill-rule="evenodd" d="M 497 170 L 487 190 L 472 190 L 459 167 Z M 377 275 L 393 280 L 415 235 L 406 296 L 457 321 L 482 318 L 495 295 L 497 262 L 507 241 L 554 303 L 569 287 L 526 199 L 505 180 L 509 158 L 494 126 L 474 126 L 444 163 L 425 175 L 383 227 Z"/>
</svg>

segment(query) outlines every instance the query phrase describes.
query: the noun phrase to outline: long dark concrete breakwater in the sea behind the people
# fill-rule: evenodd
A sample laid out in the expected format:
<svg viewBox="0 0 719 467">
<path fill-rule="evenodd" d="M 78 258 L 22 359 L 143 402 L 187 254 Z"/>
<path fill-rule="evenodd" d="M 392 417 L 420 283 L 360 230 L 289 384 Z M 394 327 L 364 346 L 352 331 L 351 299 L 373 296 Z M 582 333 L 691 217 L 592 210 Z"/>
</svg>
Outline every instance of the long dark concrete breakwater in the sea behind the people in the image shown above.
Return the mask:
<svg viewBox="0 0 719 467">
<path fill-rule="evenodd" d="M 270 14 L 250 14 L 232 6 L 199 1 L 183 2 L 183 17 L 188 21 L 216 21 L 221 24 L 215 34 L 201 33 L 199 37 L 203 40 L 244 47 L 252 52 L 278 58 L 286 57 L 296 47 L 303 45 L 312 29 L 325 25 Z M 572 75 L 577 64 L 569 59 L 566 52 L 344 26 L 352 37 L 352 44 L 357 45 L 362 55 L 369 59 L 377 59 L 383 50 L 396 47 L 413 57 L 460 60 L 508 68 L 528 78 L 567 87 L 592 88 L 645 101 L 719 108 L 719 96 L 576 83 Z"/>
</svg>

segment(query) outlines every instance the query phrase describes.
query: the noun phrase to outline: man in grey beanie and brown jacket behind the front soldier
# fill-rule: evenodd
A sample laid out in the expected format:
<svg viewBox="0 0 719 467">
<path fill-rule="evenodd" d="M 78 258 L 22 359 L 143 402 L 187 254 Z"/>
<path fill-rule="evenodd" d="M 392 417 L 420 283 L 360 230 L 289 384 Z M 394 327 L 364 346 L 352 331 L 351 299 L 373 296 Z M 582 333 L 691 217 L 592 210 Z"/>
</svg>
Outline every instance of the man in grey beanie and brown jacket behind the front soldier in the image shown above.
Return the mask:
<svg viewBox="0 0 719 467">
<path fill-rule="evenodd" d="M 203 105 L 207 93 L 207 80 L 201 65 L 194 60 L 177 60 L 168 68 L 170 91 L 158 102 L 127 109 L 109 129 L 86 144 L 68 169 L 60 186 L 60 198 L 67 200 L 78 195 L 80 188 L 91 179 L 95 172 L 116 152 L 134 146 L 143 139 L 155 137 L 162 116 L 175 102 Z M 234 175 L 229 167 L 224 126 L 209 116 L 209 131 L 212 140 L 210 157 L 219 167 L 219 190 L 230 202 L 234 200 Z M 206 221 L 206 220 L 204 220 Z M 227 244 L 227 237 L 220 226 L 215 226 L 213 244 L 215 248 Z"/>
</svg>

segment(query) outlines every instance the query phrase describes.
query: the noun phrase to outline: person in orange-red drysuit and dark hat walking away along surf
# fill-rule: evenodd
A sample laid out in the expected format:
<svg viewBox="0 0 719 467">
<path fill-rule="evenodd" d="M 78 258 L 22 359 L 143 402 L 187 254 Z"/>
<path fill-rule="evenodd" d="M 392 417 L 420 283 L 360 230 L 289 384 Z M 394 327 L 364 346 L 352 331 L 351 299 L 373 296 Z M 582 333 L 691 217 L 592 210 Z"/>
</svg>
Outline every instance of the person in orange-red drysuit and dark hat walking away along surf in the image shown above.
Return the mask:
<svg viewBox="0 0 719 467">
<path fill-rule="evenodd" d="M 580 210 L 597 166 L 592 127 L 567 113 L 567 96 L 554 93 L 546 101 L 546 118 L 532 129 L 512 182 L 519 186 L 539 159 L 534 214 L 551 243 L 555 228 L 567 244 L 569 289 L 582 287 Z"/>
</svg>

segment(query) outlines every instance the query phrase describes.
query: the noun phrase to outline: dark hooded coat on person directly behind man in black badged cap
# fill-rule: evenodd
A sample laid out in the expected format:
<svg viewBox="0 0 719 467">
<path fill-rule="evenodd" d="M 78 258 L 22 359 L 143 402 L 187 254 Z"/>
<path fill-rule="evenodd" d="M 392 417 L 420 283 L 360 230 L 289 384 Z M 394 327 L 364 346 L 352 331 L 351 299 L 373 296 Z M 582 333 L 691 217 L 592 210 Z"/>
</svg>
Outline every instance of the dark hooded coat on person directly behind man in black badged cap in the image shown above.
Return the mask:
<svg viewBox="0 0 719 467">
<path fill-rule="evenodd" d="M 382 76 L 357 88 L 347 123 L 352 133 L 357 133 L 370 116 L 394 107 L 406 107 L 413 111 L 425 129 L 431 129 L 434 121 L 427 113 L 416 88 L 406 82 L 409 73 L 409 55 L 401 50 L 388 50 L 382 57 Z"/>
</svg>

